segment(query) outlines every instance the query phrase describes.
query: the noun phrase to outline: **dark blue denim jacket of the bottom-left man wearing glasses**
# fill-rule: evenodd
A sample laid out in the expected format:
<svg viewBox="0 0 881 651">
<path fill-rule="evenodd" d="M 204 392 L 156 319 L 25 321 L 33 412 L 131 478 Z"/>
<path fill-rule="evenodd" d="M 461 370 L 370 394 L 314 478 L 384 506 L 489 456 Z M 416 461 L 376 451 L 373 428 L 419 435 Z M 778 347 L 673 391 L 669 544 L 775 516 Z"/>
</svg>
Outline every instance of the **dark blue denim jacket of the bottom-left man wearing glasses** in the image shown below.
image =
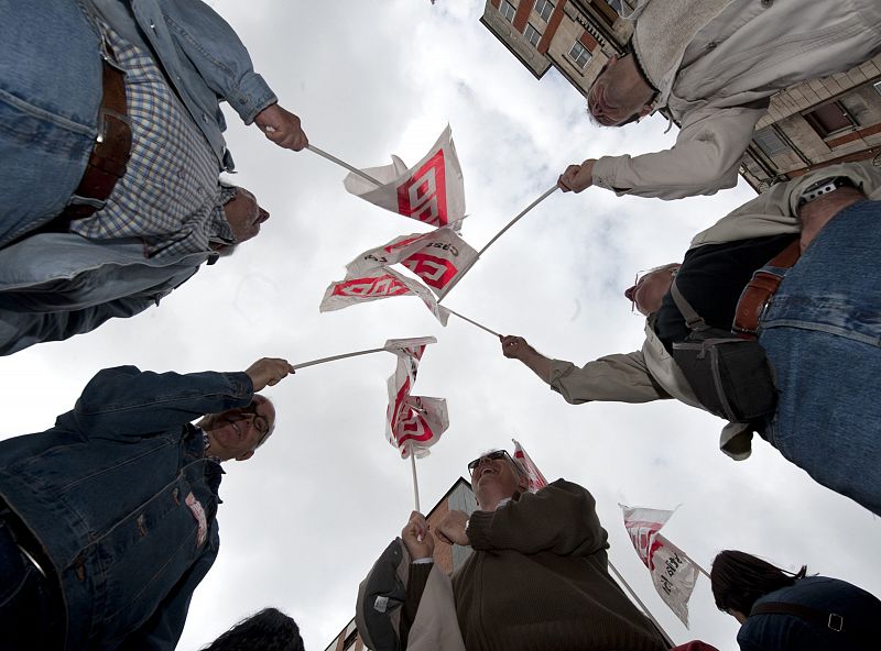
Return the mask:
<svg viewBox="0 0 881 651">
<path fill-rule="evenodd" d="M 0 496 L 51 559 L 66 649 L 174 649 L 219 545 L 222 471 L 189 421 L 252 389 L 244 373 L 106 368 L 54 428 L 0 442 Z"/>
</svg>

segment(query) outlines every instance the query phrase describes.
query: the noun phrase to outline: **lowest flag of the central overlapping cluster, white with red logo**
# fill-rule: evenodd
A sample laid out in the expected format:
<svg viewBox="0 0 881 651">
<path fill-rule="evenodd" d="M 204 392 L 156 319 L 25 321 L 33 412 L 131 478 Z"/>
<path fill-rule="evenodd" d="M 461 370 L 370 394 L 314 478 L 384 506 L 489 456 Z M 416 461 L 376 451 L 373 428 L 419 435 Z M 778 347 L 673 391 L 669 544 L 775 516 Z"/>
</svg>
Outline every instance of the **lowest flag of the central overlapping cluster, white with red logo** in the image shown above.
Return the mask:
<svg viewBox="0 0 881 651">
<path fill-rule="evenodd" d="M 417 280 L 406 278 L 385 267 L 378 267 L 362 275 L 346 274 L 345 279 L 330 283 L 318 309 L 322 312 L 329 312 L 355 304 L 393 296 L 418 296 L 440 324 L 447 324 L 449 311 L 437 305 L 431 291 Z"/>
</svg>

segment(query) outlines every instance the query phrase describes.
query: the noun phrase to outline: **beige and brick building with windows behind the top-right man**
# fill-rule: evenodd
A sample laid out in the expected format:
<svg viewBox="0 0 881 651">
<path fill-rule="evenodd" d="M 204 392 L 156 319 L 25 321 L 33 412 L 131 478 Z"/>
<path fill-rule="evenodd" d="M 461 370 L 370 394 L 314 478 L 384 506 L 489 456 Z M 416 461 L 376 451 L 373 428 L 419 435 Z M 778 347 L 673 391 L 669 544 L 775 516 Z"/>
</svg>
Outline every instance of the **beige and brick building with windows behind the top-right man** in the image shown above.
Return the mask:
<svg viewBox="0 0 881 651">
<path fill-rule="evenodd" d="M 536 79 L 553 66 L 587 95 L 633 32 L 620 18 L 634 0 L 487 0 L 480 22 Z M 762 191 L 825 165 L 881 165 L 881 55 L 851 70 L 792 86 L 771 99 L 741 175 Z"/>
</svg>

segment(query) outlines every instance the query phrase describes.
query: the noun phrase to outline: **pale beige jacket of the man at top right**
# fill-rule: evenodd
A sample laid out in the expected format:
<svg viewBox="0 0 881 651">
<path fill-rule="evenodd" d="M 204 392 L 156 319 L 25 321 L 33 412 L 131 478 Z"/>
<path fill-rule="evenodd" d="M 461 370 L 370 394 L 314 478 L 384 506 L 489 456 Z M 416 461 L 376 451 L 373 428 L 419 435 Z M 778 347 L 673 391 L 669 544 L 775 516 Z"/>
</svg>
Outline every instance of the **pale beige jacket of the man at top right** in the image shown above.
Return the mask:
<svg viewBox="0 0 881 651">
<path fill-rule="evenodd" d="M 878 0 L 643 0 L 633 47 L 682 123 L 676 144 L 603 156 L 594 184 L 618 195 L 679 199 L 737 184 L 769 98 L 881 52 Z"/>
</svg>

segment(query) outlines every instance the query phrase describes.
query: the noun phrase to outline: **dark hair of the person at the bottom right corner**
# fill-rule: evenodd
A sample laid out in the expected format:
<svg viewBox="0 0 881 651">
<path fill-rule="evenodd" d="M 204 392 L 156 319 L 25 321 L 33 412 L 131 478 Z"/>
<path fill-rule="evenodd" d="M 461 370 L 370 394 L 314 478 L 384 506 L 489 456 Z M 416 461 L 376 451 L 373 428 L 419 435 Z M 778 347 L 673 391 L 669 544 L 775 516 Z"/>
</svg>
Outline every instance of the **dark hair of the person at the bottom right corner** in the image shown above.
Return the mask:
<svg viewBox="0 0 881 651">
<path fill-rule="evenodd" d="M 719 610 L 747 617 L 759 597 L 804 578 L 807 567 L 793 574 L 752 554 L 726 550 L 713 561 L 709 577 Z"/>
</svg>

